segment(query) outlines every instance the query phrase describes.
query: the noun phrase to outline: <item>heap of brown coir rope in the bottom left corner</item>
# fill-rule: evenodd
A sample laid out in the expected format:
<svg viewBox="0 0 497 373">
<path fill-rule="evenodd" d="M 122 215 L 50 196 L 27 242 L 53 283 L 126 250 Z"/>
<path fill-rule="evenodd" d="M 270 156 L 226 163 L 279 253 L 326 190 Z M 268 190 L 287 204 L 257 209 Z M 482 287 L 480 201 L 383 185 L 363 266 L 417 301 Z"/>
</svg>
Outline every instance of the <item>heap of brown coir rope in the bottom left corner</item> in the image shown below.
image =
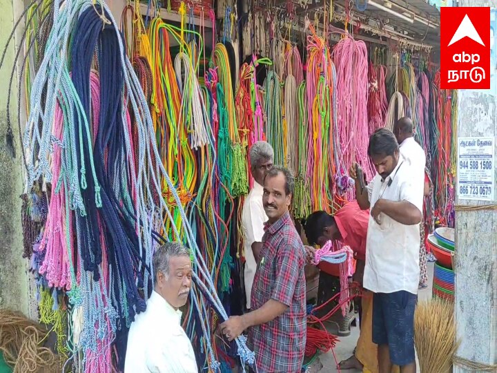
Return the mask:
<svg viewBox="0 0 497 373">
<path fill-rule="evenodd" d="M 57 372 L 59 358 L 43 341 L 48 331 L 28 318 L 5 309 L 0 310 L 0 352 L 14 373 Z"/>
</svg>

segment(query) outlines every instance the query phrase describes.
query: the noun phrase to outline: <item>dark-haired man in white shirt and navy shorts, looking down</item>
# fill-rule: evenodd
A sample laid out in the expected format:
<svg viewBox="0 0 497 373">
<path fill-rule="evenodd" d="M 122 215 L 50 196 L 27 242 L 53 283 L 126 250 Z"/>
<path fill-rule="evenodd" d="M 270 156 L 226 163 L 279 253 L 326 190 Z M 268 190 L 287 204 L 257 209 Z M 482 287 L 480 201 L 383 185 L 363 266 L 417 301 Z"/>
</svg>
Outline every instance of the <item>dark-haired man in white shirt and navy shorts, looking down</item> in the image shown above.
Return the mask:
<svg viewBox="0 0 497 373">
<path fill-rule="evenodd" d="M 378 345 L 380 373 L 399 365 L 402 373 L 416 373 L 414 309 L 419 283 L 419 223 L 423 179 L 413 178 L 391 131 L 380 128 L 369 138 L 368 155 L 376 175 L 364 190 L 355 164 L 355 196 L 361 209 L 371 207 L 364 288 L 373 295 L 373 343 Z"/>
</svg>

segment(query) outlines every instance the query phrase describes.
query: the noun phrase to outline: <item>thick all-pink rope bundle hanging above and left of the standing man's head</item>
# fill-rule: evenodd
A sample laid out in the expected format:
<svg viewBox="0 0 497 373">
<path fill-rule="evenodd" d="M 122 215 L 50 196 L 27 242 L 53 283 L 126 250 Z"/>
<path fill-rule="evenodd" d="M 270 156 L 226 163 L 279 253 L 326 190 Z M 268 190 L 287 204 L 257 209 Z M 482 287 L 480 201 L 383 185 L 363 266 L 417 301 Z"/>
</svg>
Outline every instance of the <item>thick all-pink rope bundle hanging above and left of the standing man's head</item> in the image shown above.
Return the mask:
<svg viewBox="0 0 497 373">
<path fill-rule="evenodd" d="M 366 44 L 346 37 L 333 48 L 332 57 L 337 70 L 338 135 L 342 144 L 337 172 L 347 173 L 353 162 L 358 162 L 369 180 L 373 169 L 367 156 L 369 126 Z"/>
</svg>

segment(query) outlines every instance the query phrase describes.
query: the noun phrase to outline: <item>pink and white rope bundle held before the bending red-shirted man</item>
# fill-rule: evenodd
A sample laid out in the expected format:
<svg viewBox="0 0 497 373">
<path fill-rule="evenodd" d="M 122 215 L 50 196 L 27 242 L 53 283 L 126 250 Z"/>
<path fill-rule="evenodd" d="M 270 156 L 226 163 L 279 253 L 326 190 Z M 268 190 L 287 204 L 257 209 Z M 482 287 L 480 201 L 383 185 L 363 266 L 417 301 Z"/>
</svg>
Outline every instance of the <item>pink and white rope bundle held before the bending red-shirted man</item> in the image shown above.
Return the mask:
<svg viewBox="0 0 497 373">
<path fill-rule="evenodd" d="M 352 249 L 344 245 L 341 249 L 334 250 L 333 242 L 328 241 L 323 247 L 315 251 L 313 265 L 318 265 L 325 258 L 337 258 L 339 256 L 347 256 L 347 258 L 340 262 L 340 303 L 342 303 L 342 315 L 345 316 L 349 312 L 350 298 L 349 294 L 349 277 L 354 273 L 353 268 L 353 251 Z M 333 260 L 327 260 L 333 262 Z"/>
</svg>

